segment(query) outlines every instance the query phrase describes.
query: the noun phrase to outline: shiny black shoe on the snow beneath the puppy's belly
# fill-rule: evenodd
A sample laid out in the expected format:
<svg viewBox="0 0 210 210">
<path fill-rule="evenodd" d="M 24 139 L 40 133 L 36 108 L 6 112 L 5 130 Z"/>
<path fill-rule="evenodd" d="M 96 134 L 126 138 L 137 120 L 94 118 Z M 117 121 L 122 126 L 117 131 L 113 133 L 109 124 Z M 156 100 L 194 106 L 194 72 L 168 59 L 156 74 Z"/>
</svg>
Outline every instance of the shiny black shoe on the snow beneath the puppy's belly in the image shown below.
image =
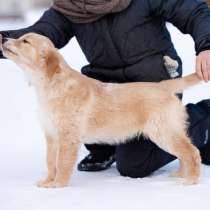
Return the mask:
<svg viewBox="0 0 210 210">
<path fill-rule="evenodd" d="M 99 154 L 87 155 L 78 165 L 79 171 L 103 171 L 115 162 L 114 155 L 101 156 Z"/>
</svg>

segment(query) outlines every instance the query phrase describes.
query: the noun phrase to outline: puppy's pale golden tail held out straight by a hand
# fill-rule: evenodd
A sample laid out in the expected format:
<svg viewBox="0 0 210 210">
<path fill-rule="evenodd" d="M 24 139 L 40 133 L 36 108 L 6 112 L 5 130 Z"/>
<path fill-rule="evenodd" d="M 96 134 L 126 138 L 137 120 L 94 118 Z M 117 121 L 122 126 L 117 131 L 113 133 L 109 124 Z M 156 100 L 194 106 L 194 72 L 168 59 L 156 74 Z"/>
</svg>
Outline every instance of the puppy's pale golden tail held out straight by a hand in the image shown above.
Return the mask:
<svg viewBox="0 0 210 210">
<path fill-rule="evenodd" d="M 182 78 L 165 80 L 160 82 L 159 84 L 171 93 L 181 93 L 184 89 L 197 85 L 200 82 L 201 80 L 199 79 L 197 74 L 193 73 Z"/>
</svg>

